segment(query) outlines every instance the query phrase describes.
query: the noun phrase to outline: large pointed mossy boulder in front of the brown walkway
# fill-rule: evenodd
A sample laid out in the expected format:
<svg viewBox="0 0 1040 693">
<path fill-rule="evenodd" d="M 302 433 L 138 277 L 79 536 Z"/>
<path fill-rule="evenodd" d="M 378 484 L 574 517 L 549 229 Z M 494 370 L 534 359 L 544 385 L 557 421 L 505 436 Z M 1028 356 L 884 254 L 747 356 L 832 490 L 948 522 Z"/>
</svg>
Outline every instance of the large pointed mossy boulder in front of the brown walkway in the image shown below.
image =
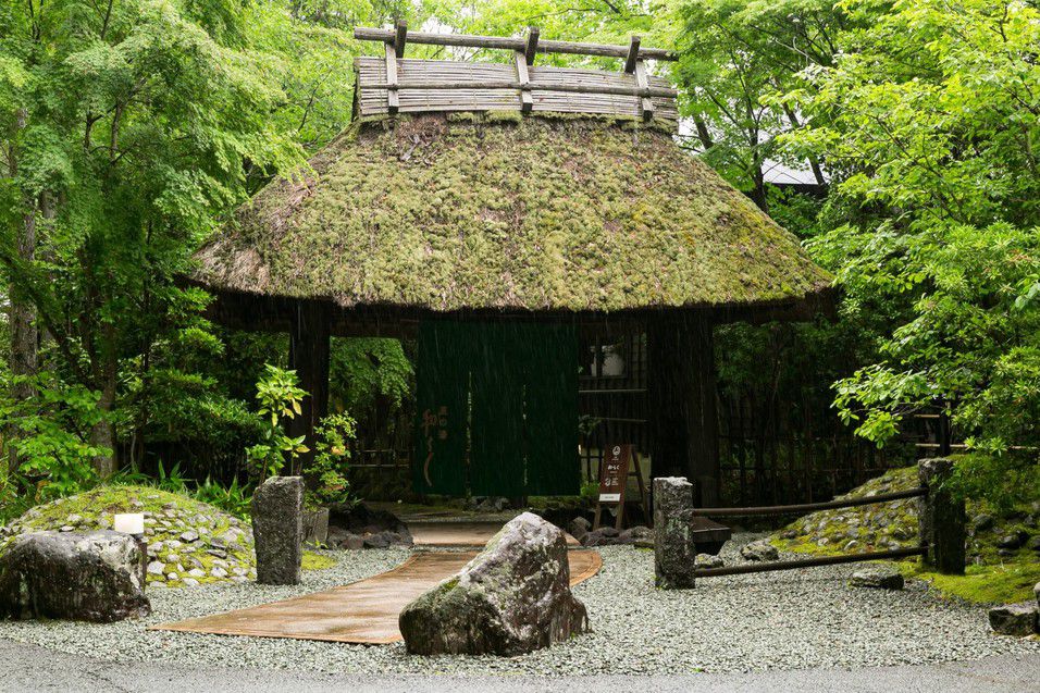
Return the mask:
<svg viewBox="0 0 1040 693">
<path fill-rule="evenodd" d="M 570 591 L 567 542 L 531 512 L 506 523 L 459 573 L 400 612 L 408 652 L 519 655 L 589 630 Z"/>
</svg>

